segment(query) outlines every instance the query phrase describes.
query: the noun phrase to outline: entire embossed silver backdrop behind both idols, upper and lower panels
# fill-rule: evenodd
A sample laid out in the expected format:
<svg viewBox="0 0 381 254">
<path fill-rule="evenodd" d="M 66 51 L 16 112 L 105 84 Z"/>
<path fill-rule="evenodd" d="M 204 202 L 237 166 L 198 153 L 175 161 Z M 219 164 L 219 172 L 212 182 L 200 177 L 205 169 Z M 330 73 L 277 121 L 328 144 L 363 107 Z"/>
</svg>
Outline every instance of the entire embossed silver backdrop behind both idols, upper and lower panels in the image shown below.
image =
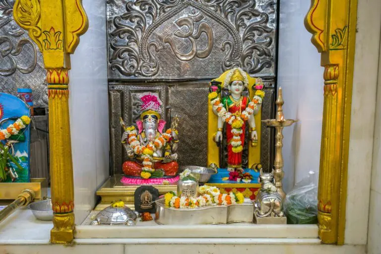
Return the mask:
<svg viewBox="0 0 381 254">
<path fill-rule="evenodd" d="M 106 0 L 112 173 L 127 159 L 123 117 L 139 116 L 139 93 L 180 118 L 179 163 L 206 165 L 208 81 L 240 66 L 262 77 L 262 119 L 274 117 L 277 0 Z M 147 83 L 145 83 L 147 82 Z M 274 134 L 262 126 L 261 161 L 272 167 Z M 222 164 L 225 157 L 221 150 Z"/>
</svg>

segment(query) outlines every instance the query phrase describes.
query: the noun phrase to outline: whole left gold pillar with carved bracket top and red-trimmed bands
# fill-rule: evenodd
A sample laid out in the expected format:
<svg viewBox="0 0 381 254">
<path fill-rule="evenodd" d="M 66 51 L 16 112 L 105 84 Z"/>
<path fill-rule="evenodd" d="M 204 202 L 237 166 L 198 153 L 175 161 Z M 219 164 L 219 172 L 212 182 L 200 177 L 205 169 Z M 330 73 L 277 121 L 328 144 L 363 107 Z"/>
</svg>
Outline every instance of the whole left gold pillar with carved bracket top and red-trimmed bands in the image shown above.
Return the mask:
<svg viewBox="0 0 381 254">
<path fill-rule="evenodd" d="M 52 205 L 51 242 L 70 243 L 74 231 L 74 186 L 68 107 L 70 54 L 86 32 L 81 0 L 15 0 L 13 17 L 38 45 L 47 69 Z"/>
</svg>

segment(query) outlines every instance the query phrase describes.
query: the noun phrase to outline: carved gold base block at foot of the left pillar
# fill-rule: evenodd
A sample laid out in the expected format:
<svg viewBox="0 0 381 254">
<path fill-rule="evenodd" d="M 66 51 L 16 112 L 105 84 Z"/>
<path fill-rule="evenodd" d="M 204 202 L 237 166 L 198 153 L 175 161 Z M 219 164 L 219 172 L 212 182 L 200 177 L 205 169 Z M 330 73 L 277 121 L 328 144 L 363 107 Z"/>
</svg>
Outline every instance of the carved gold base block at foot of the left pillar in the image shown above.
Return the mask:
<svg viewBox="0 0 381 254">
<path fill-rule="evenodd" d="M 50 241 L 55 244 L 68 244 L 74 239 L 74 213 L 55 213 Z"/>
</svg>

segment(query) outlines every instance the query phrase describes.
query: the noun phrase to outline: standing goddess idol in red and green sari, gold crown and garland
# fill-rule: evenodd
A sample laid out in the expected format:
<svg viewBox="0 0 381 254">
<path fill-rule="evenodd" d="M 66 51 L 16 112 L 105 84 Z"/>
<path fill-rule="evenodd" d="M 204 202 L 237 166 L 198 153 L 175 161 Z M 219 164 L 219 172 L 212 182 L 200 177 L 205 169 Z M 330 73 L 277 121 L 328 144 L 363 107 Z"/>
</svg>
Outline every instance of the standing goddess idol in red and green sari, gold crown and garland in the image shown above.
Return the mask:
<svg viewBox="0 0 381 254">
<path fill-rule="evenodd" d="M 255 81 L 255 93 L 253 100 L 244 95 L 244 89 L 248 88 L 248 73 L 239 67 L 224 72 L 219 78 L 212 80 L 210 86 L 209 100 L 213 113 L 218 116 L 218 131 L 215 141 L 220 144 L 223 138 L 222 131 L 226 123 L 226 138 L 228 150 L 228 171 L 240 171 L 242 168 L 242 150 L 245 143 L 246 124 L 250 127 L 250 138 L 252 144 L 257 142 L 258 135 L 255 127 L 254 116 L 258 114 L 264 92 L 263 83 L 260 78 Z M 220 92 L 228 89 L 229 94 L 224 96 Z"/>
</svg>

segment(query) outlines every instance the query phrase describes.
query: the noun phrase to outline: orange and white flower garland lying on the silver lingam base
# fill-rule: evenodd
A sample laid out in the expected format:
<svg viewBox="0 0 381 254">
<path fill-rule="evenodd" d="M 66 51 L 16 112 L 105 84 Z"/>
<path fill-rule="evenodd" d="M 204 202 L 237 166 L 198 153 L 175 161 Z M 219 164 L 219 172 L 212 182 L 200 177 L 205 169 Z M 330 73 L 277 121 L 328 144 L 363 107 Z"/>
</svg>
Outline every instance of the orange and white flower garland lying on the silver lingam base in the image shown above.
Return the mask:
<svg viewBox="0 0 381 254">
<path fill-rule="evenodd" d="M 196 208 L 213 205 L 231 205 L 242 204 L 244 195 L 241 192 L 221 193 L 217 187 L 200 186 L 196 198 L 194 197 L 178 197 L 173 191 L 164 195 L 165 205 L 174 208 Z"/>
</svg>

